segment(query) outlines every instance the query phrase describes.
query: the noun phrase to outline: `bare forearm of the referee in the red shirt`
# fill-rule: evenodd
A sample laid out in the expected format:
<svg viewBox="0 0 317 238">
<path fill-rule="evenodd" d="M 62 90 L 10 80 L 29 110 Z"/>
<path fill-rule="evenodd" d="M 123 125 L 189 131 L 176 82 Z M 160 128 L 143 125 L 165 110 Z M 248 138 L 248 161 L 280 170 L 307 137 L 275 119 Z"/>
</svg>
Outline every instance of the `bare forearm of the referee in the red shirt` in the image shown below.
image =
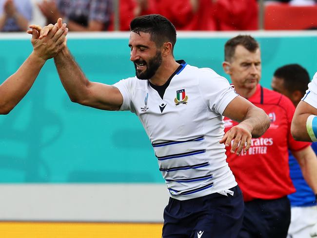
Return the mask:
<svg viewBox="0 0 317 238">
<path fill-rule="evenodd" d="M 312 147 L 307 146 L 299 151 L 292 151 L 297 159 L 301 172 L 307 184 L 317 194 L 317 157 Z"/>
</svg>

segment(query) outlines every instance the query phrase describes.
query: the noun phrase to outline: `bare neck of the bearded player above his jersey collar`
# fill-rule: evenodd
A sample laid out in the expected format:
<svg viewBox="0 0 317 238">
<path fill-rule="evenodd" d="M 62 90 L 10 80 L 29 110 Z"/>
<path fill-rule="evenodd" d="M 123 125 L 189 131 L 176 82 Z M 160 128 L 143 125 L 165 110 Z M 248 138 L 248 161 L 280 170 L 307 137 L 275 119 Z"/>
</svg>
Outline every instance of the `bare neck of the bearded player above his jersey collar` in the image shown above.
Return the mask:
<svg viewBox="0 0 317 238">
<path fill-rule="evenodd" d="M 151 83 L 158 86 L 164 85 L 178 67 L 179 63 L 175 59 L 162 62 L 156 74 L 150 79 Z"/>
</svg>

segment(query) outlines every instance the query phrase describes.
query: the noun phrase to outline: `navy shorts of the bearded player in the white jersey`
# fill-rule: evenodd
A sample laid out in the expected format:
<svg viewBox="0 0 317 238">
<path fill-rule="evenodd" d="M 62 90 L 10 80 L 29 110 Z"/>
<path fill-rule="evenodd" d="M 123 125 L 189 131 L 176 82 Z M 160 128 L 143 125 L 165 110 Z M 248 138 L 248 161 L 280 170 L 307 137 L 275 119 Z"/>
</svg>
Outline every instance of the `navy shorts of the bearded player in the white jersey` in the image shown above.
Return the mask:
<svg viewBox="0 0 317 238">
<path fill-rule="evenodd" d="M 238 186 L 234 196 L 218 193 L 189 200 L 170 198 L 164 209 L 162 238 L 236 238 L 244 203 Z"/>
</svg>

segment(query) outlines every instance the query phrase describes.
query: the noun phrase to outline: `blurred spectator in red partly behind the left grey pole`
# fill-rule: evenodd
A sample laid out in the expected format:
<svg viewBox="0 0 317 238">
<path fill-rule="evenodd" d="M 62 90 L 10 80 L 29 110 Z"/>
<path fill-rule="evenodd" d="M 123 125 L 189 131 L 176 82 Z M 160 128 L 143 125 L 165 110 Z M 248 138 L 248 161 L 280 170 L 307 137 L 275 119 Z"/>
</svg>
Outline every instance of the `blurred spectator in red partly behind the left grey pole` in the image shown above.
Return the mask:
<svg viewBox="0 0 317 238">
<path fill-rule="evenodd" d="M 129 31 L 131 20 L 154 13 L 157 13 L 155 0 L 119 0 L 119 30 Z M 109 30 L 114 30 L 114 16 Z"/>
</svg>

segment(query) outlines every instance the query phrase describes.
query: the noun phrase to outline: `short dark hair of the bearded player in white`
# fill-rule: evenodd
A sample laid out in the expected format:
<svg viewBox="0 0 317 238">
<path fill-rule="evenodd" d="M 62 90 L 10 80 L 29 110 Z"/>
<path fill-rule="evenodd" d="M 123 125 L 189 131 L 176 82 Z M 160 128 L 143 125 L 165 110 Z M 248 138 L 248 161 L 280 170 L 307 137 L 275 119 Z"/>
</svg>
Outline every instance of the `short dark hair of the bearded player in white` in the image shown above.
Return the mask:
<svg viewBox="0 0 317 238">
<path fill-rule="evenodd" d="M 133 19 L 130 23 L 130 31 L 140 34 L 140 32 L 151 34 L 151 40 L 158 47 L 165 42 L 172 43 L 172 52 L 176 43 L 175 26 L 167 18 L 158 15 L 144 15 Z"/>
</svg>

